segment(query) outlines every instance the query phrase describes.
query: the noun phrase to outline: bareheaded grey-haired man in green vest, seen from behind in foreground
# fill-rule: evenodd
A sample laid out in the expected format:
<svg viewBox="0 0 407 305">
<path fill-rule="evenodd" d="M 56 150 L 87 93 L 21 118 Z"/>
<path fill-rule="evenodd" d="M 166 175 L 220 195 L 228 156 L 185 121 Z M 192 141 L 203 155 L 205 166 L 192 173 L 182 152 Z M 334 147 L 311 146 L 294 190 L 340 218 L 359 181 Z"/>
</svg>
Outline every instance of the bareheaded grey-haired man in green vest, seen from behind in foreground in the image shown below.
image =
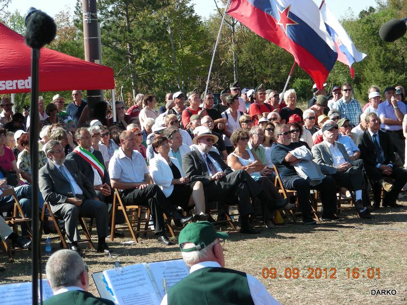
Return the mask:
<svg viewBox="0 0 407 305">
<path fill-rule="evenodd" d="M 45 267 L 47 281 L 54 293 L 44 305 L 113 305 L 110 300 L 88 292 L 89 270 L 75 252 L 60 250 L 51 255 Z"/>
</svg>

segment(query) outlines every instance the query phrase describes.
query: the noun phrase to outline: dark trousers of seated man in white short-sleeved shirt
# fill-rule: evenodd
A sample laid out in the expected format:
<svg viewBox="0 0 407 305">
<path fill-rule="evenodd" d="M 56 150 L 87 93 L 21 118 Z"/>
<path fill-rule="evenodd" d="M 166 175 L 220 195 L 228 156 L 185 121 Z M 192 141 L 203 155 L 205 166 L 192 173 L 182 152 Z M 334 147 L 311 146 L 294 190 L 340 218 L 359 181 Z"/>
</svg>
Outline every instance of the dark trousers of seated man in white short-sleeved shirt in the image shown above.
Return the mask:
<svg viewBox="0 0 407 305">
<path fill-rule="evenodd" d="M 157 185 L 149 185 L 145 189 L 125 190 L 123 202 L 126 205 L 136 204 L 148 206 L 154 222 L 155 234 L 164 234 L 163 213 L 169 214 L 175 211 L 175 207 L 168 201 L 164 193 Z"/>
</svg>

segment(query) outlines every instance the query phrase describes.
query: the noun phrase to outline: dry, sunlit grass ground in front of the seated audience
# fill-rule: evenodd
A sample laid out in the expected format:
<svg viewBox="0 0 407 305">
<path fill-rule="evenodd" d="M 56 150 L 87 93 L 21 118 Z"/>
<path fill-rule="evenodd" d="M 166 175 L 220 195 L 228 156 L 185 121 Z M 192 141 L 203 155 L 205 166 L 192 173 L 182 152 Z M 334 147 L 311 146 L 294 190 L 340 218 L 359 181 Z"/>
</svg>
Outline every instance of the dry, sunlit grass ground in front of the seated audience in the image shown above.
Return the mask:
<svg viewBox="0 0 407 305">
<path fill-rule="evenodd" d="M 226 267 L 259 279 L 281 304 L 406 304 L 407 202 L 403 200 L 401 209 L 381 208 L 374 212 L 374 220 L 361 221 L 350 209 L 342 211 L 345 219 L 340 223 L 320 222 L 316 226 L 288 223 L 272 230 L 262 229 L 259 236 L 220 228 L 230 233 L 224 246 Z M 127 236 L 109 243 L 120 255 L 118 260 L 123 266 L 181 258 L 178 245 L 161 246 L 152 234 L 129 246 L 123 245 L 130 240 Z M 82 244 L 82 248 L 85 246 Z M 56 248 L 54 243 L 53 249 Z M 113 267 L 113 259 L 95 251 L 84 252 L 90 272 Z M 9 263 L 2 251 L 0 262 L 7 270 L 0 273 L 0 283 L 31 279 L 28 254 L 17 252 L 16 261 Z M 359 268 L 359 278 L 354 268 Z M 374 269 L 374 276 L 372 269 L 368 274 L 368 268 Z M 271 276 L 265 279 L 263 275 L 267 277 L 268 273 Z M 308 278 L 310 273 L 314 278 Z M 394 289 L 396 295 L 372 295 L 371 289 Z M 90 291 L 98 295 L 92 280 Z"/>
</svg>

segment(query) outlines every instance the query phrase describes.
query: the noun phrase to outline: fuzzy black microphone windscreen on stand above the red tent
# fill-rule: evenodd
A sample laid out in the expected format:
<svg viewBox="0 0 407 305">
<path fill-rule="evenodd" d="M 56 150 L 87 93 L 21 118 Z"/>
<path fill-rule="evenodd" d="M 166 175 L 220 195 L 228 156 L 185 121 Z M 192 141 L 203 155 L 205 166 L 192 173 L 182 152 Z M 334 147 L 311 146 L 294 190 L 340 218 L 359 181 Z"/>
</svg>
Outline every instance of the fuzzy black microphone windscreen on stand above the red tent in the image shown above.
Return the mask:
<svg viewBox="0 0 407 305">
<path fill-rule="evenodd" d="M 42 11 L 35 11 L 27 20 L 25 43 L 33 49 L 41 49 L 49 44 L 56 35 L 54 20 Z"/>
</svg>

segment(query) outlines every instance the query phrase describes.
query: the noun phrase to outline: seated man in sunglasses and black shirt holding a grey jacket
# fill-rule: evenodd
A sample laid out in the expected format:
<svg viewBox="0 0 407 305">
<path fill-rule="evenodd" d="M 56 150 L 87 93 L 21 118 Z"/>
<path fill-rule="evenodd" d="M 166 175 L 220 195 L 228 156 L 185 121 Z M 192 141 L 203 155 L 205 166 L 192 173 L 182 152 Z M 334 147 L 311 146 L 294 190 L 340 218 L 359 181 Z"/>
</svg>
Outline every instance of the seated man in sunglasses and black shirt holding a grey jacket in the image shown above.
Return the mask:
<svg viewBox="0 0 407 305">
<path fill-rule="evenodd" d="M 290 151 L 303 146 L 301 142 L 291 142 L 291 135 L 287 125 L 280 124 L 275 127 L 277 145 L 271 154 L 271 161 L 277 167 L 283 185 L 288 190 L 296 190 L 299 200 L 299 209 L 303 216 L 303 222 L 307 225 L 314 225 L 316 221 L 311 217 L 311 203 L 309 194 L 311 189 L 316 189 L 321 194 L 323 205 L 322 218 L 326 221 L 338 221 L 336 216 L 336 183 L 335 180 L 326 176 L 316 186 L 311 186 L 310 182 L 297 173 L 294 165 L 301 162 L 301 159 L 294 157 Z M 313 161 L 311 161 L 313 162 Z"/>
</svg>

